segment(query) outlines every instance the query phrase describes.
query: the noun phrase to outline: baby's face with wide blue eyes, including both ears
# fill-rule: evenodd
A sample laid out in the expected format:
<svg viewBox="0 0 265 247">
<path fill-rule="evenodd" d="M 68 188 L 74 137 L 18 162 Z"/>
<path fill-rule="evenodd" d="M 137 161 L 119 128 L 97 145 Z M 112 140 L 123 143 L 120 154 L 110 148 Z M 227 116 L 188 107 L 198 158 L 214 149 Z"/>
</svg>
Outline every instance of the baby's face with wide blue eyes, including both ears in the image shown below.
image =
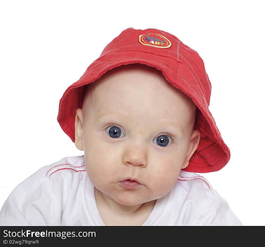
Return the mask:
<svg viewBox="0 0 265 247">
<path fill-rule="evenodd" d="M 76 111 L 75 144 L 95 188 L 127 206 L 167 194 L 198 147 L 195 111 L 148 66 L 120 66 L 90 84 Z"/>
</svg>

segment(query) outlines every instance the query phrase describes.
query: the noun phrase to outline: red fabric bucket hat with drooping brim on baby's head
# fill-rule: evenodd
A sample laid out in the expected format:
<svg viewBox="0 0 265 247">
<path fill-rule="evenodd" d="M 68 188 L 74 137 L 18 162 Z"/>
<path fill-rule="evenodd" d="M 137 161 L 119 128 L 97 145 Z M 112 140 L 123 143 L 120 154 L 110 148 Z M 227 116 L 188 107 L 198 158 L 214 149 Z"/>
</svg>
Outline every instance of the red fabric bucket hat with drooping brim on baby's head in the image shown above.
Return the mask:
<svg viewBox="0 0 265 247">
<path fill-rule="evenodd" d="M 199 54 L 176 36 L 158 29 L 128 28 L 114 38 L 81 78 L 64 92 L 57 120 L 63 131 L 75 141 L 76 109 L 82 108 L 84 85 L 100 78 L 115 67 L 141 63 L 160 70 L 167 81 L 188 95 L 198 106 L 195 130 L 201 132 L 197 150 L 183 169 L 187 172 L 214 172 L 230 159 L 209 111 L 211 83 Z"/>
</svg>

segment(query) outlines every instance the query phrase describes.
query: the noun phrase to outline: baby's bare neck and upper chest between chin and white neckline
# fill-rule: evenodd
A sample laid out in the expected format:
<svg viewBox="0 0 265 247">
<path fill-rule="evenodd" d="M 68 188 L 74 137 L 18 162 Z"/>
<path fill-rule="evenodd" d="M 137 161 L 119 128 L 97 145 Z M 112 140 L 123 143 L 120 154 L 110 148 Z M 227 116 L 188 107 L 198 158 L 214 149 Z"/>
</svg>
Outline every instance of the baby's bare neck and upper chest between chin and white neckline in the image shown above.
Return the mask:
<svg viewBox="0 0 265 247">
<path fill-rule="evenodd" d="M 135 206 L 121 205 L 95 188 L 95 200 L 105 225 L 142 225 L 154 208 L 156 200 Z"/>
</svg>

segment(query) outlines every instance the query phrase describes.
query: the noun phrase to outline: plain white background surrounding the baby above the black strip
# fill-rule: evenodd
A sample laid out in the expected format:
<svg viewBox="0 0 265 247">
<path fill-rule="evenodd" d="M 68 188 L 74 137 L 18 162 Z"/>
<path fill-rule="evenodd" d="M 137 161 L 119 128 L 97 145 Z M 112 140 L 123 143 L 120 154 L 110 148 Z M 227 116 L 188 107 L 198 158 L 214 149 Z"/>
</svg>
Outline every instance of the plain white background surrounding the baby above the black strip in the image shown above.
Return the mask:
<svg viewBox="0 0 265 247">
<path fill-rule="evenodd" d="M 58 105 L 113 38 L 157 28 L 196 50 L 212 83 L 210 111 L 231 151 L 204 174 L 243 225 L 264 225 L 262 1 L 1 1 L 0 207 L 40 167 L 83 155 Z"/>
</svg>

